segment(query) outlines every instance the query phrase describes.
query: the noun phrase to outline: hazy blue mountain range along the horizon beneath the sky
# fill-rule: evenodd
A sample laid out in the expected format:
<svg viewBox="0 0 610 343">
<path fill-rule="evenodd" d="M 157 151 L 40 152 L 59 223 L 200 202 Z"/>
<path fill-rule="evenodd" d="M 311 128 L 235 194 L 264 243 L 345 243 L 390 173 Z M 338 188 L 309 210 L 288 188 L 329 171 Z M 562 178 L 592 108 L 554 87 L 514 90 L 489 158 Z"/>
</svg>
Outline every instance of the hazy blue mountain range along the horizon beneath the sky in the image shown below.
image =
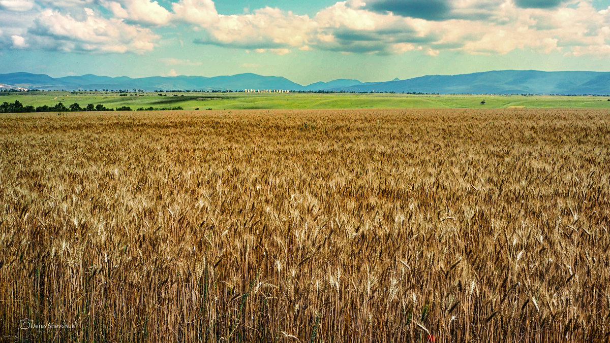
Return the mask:
<svg viewBox="0 0 610 343">
<path fill-rule="evenodd" d="M 610 94 L 610 72 L 503 70 L 453 76 L 431 75 L 386 82 L 339 79 L 300 85 L 285 77 L 232 76 L 108 77 L 92 74 L 53 78 L 45 74 L 0 74 L 5 88 L 40 90 L 292 90 L 439 94 Z M 10 85 L 10 86 L 9 86 Z M 0 88 L 2 89 L 2 88 Z"/>
</svg>

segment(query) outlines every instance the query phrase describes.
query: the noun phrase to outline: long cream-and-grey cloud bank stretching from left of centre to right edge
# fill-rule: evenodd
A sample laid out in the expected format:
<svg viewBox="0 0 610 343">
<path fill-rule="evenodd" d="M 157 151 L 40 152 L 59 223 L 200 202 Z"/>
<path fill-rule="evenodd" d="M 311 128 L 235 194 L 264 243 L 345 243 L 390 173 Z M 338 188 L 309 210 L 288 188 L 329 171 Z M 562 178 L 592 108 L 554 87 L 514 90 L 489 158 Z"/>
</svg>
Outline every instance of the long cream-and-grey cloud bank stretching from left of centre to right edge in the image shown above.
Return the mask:
<svg viewBox="0 0 610 343">
<path fill-rule="evenodd" d="M 173 12 L 174 21 L 199 30 L 195 43 L 275 54 L 292 49 L 367 54 L 421 51 L 431 56 L 445 50 L 567 53 L 565 46 L 598 46 L 598 51 L 606 51 L 601 28 L 610 26 L 610 15 L 597 12 L 586 1 L 576 8 L 561 4 L 545 1 L 542 5 L 534 0 L 348 0 L 309 17 L 270 7 L 220 15 L 212 0 L 180 0 L 173 4 Z M 595 49 L 574 51 L 587 54 Z"/>
</svg>

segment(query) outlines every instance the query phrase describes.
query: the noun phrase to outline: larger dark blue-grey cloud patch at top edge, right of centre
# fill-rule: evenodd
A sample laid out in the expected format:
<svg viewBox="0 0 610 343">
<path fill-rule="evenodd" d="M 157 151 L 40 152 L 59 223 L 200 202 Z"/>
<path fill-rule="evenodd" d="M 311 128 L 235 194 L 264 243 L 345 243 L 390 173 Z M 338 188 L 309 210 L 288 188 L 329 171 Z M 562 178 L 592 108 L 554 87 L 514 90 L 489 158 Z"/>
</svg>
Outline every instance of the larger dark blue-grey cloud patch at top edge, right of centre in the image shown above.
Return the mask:
<svg viewBox="0 0 610 343">
<path fill-rule="evenodd" d="M 449 0 L 379 0 L 367 4 L 375 12 L 392 12 L 426 20 L 443 20 L 451 12 Z"/>
</svg>

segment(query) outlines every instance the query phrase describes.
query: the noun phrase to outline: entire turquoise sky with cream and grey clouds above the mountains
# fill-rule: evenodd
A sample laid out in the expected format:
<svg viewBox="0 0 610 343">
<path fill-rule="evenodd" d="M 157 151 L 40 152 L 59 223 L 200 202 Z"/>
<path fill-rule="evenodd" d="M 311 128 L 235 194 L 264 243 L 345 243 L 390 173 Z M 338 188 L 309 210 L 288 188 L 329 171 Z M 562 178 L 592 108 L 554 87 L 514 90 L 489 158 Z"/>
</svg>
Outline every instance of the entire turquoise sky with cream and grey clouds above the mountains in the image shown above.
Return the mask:
<svg viewBox="0 0 610 343">
<path fill-rule="evenodd" d="M 610 71 L 610 0 L 0 0 L 0 73 Z"/>
</svg>

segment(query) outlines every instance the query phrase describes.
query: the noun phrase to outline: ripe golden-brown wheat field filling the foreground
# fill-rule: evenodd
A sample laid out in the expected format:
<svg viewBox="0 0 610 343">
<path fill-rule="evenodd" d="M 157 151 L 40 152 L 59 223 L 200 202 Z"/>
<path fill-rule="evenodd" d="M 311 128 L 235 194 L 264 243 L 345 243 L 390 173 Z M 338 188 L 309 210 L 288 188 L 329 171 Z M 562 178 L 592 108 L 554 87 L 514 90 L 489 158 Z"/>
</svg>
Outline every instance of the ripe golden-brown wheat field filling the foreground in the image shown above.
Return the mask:
<svg viewBox="0 0 610 343">
<path fill-rule="evenodd" d="M 0 341 L 607 342 L 609 147 L 608 110 L 2 115 Z"/>
</svg>

